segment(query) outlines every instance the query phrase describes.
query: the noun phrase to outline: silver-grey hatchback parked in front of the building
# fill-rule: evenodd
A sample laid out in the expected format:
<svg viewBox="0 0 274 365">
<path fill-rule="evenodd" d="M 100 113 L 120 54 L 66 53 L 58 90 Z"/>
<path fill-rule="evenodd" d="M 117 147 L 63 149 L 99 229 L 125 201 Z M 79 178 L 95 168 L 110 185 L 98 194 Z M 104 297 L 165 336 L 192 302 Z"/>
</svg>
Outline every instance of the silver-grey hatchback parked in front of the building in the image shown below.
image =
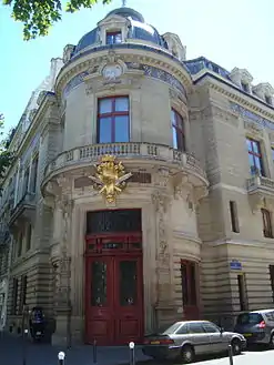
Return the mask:
<svg viewBox="0 0 274 365">
<path fill-rule="evenodd" d="M 143 354 L 155 359 L 181 358 L 190 364 L 196 355 L 222 353 L 230 344 L 233 354 L 239 355 L 246 339 L 207 321 L 176 322 L 161 333 L 145 336 Z"/>
</svg>

